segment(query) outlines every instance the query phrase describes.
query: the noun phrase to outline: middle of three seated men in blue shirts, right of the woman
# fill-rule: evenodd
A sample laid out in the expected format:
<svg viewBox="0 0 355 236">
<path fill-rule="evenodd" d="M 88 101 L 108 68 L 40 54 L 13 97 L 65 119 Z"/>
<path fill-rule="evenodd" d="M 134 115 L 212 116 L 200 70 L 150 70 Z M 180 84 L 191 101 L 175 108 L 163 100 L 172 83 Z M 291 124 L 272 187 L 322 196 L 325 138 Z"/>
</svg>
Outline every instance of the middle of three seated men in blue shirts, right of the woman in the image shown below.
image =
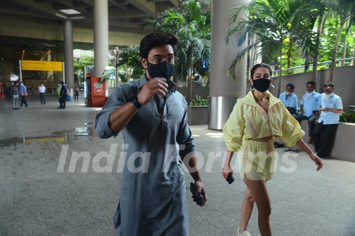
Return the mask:
<svg viewBox="0 0 355 236">
<path fill-rule="evenodd" d="M 301 123 L 302 120 L 308 120 L 308 143 L 313 143 L 313 132 L 316 127 L 316 120 L 318 119 L 319 111 L 318 105 L 320 94 L 316 92 L 316 82 L 307 82 L 307 92 L 303 95 L 301 100 L 301 114 L 297 115 L 295 119 Z"/>
</svg>

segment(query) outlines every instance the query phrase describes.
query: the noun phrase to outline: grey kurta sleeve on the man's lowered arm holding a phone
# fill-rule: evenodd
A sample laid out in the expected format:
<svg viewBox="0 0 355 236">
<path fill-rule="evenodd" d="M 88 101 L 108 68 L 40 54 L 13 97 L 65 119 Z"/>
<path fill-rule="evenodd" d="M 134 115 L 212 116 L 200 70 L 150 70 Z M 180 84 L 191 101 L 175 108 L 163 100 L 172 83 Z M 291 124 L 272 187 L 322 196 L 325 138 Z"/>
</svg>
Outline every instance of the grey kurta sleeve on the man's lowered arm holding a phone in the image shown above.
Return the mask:
<svg viewBox="0 0 355 236">
<path fill-rule="evenodd" d="M 179 145 L 185 145 L 185 149 L 179 151 L 180 157 L 186 156 L 190 152 L 195 152 L 194 137 L 187 124 L 187 105 L 178 128 L 177 142 Z"/>
</svg>

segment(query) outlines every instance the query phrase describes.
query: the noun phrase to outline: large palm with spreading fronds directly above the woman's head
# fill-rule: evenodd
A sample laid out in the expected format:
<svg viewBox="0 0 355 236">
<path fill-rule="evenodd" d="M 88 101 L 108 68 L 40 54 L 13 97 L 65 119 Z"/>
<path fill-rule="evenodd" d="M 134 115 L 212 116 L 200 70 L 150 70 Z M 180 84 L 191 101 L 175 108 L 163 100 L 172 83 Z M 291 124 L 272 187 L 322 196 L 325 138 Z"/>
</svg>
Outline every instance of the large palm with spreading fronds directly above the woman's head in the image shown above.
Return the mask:
<svg viewBox="0 0 355 236">
<path fill-rule="evenodd" d="M 312 32 L 310 20 L 317 16 L 317 11 L 310 0 L 253 0 L 247 4 L 232 9 L 230 26 L 226 34 L 226 42 L 231 39 L 237 41 L 240 47 L 247 36 L 256 35 L 256 40 L 242 49 L 232 61 L 228 73 L 235 79 L 235 66 L 249 50 L 258 50 L 258 58 L 280 58 L 279 62 L 279 88 L 281 91 L 282 79 L 282 49 L 284 39 L 289 38 L 301 50 L 306 64 L 309 64 L 313 53 L 316 51 L 316 34 Z M 238 19 L 239 14 L 249 14 L 247 19 Z M 237 20 L 238 19 L 238 20 Z"/>
</svg>

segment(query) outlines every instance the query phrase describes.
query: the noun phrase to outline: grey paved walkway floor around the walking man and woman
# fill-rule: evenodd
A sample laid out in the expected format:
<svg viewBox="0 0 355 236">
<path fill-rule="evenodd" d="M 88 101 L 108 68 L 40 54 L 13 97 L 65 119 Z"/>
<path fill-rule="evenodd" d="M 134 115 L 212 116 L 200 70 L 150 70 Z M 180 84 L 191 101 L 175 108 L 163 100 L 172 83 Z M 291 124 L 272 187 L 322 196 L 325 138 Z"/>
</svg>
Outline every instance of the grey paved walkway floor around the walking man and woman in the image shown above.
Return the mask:
<svg viewBox="0 0 355 236">
<path fill-rule="evenodd" d="M 82 98 L 68 102 L 65 110 L 56 108 L 55 97 L 47 97 L 46 105 L 37 97 L 28 100 L 29 107 L 20 110 L 12 110 L 10 99 L 0 100 L 0 236 L 113 236 L 111 220 L 121 181 L 115 170 L 122 136 L 96 137 L 93 120 L 98 110 L 85 107 Z M 197 149 L 206 157 L 202 176 L 209 202 L 201 208 L 189 200 L 190 235 L 234 236 L 245 184 L 238 175 L 231 185 L 222 179 L 222 157 L 215 158 L 212 169 L 206 163 L 210 151 L 225 151 L 221 133 L 206 126 L 194 126 L 192 131 Z M 80 171 L 82 161 L 69 172 L 70 158 L 64 171 L 57 172 L 65 144 L 68 157 L 89 152 L 87 172 Z M 113 171 L 95 172 L 94 156 L 108 152 L 111 144 L 118 144 Z M 284 148 L 278 152 L 283 155 Z M 268 182 L 274 235 L 354 236 L 355 163 L 324 160 L 323 169 L 316 172 L 305 153 L 289 159 L 297 168 L 280 171 L 290 167 L 280 159 L 275 178 Z M 186 186 L 191 181 L 186 174 Z M 260 235 L 256 207 L 249 231 Z"/>
</svg>

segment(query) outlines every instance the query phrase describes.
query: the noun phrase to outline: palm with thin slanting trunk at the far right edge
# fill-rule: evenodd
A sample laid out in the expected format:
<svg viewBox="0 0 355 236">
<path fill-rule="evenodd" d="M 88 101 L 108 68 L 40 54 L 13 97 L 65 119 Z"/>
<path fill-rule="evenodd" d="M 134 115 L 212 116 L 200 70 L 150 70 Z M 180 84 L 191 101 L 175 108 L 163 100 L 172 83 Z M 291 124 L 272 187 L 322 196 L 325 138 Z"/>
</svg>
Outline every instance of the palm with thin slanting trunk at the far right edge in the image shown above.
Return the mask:
<svg viewBox="0 0 355 236">
<path fill-rule="evenodd" d="M 343 31 L 344 25 L 347 21 L 353 21 L 355 18 L 355 1 L 354 0 L 329 0 L 327 5 L 332 8 L 340 19 L 340 26 L 334 42 L 333 57 L 330 64 L 329 81 L 333 81 L 335 60 L 338 52 L 339 40 Z"/>
</svg>

